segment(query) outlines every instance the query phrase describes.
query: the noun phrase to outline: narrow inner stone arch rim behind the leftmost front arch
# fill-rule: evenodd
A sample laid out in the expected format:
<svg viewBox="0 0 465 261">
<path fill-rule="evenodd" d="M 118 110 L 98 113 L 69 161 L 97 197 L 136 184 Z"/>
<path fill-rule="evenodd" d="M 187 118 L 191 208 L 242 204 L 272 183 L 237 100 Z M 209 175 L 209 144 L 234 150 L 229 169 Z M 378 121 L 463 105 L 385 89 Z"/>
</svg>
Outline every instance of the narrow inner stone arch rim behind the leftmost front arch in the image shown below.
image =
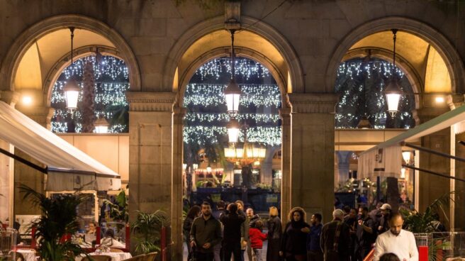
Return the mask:
<svg viewBox="0 0 465 261">
<path fill-rule="evenodd" d="M 78 60 L 79 58 L 92 55 L 96 52 L 96 48 L 99 48 L 99 52 L 102 55 L 109 55 L 124 60 L 123 57 L 121 57 L 120 52 L 118 52 L 116 48 L 101 45 L 90 45 L 75 49 L 73 52 L 73 57 L 75 60 Z M 52 96 L 53 85 L 55 84 L 55 82 L 57 82 L 57 79 L 58 77 L 60 77 L 60 74 L 63 72 L 63 70 L 65 70 L 65 68 L 69 65 L 71 65 L 71 52 L 67 53 L 62 58 L 60 58 L 60 60 L 58 60 L 52 67 L 52 69 L 47 73 L 47 77 L 45 77 L 43 81 L 43 94 L 45 98 L 45 105 L 50 106 L 50 96 Z"/>
</svg>

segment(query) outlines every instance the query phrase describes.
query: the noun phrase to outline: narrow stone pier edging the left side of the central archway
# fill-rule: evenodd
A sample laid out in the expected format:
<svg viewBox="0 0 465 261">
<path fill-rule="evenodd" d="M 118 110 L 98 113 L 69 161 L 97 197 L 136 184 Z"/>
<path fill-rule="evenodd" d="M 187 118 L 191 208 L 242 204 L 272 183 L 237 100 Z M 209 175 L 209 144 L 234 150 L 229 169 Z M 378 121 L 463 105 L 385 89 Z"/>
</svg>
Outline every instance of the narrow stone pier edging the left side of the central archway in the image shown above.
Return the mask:
<svg viewBox="0 0 465 261">
<path fill-rule="evenodd" d="M 172 134 L 172 260 L 182 260 L 182 163 L 183 163 L 183 117 L 186 114 L 186 109 L 174 107 L 173 111 L 173 134 Z M 187 235 L 189 236 L 189 235 Z"/>
</svg>

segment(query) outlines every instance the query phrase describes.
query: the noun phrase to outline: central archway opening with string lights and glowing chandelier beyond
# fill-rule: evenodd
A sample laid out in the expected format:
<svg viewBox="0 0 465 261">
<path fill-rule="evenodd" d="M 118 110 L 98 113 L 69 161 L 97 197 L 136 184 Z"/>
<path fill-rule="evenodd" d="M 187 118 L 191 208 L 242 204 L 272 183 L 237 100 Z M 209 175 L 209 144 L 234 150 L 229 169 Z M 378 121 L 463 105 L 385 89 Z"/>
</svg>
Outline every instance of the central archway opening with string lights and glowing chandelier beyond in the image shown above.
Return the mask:
<svg viewBox="0 0 465 261">
<path fill-rule="evenodd" d="M 231 77 L 230 58 L 204 63 L 184 88 L 184 207 L 209 201 L 218 215 L 220 201 L 241 200 L 245 209 L 265 216 L 270 206 L 281 208 L 281 154 L 276 150 L 281 148 L 282 94 L 270 70 L 259 62 L 238 57 L 235 67 L 242 126 L 232 154 L 223 94 Z M 250 151 L 247 157 L 244 150 Z"/>
</svg>

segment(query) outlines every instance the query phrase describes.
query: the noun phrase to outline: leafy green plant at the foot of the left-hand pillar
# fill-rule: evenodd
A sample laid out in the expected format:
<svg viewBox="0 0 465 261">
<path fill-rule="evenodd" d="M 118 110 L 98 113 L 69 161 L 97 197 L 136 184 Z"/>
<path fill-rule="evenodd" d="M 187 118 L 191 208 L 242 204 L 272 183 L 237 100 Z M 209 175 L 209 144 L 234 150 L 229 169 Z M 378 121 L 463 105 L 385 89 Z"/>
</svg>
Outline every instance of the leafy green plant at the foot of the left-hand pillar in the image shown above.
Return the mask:
<svg viewBox="0 0 465 261">
<path fill-rule="evenodd" d="M 154 213 L 138 211 L 138 217 L 131 226 L 131 233 L 135 235 L 137 245 L 135 252 L 146 254 L 159 251 L 159 240 L 163 226 L 169 226 L 166 212 L 157 210 Z"/>
</svg>

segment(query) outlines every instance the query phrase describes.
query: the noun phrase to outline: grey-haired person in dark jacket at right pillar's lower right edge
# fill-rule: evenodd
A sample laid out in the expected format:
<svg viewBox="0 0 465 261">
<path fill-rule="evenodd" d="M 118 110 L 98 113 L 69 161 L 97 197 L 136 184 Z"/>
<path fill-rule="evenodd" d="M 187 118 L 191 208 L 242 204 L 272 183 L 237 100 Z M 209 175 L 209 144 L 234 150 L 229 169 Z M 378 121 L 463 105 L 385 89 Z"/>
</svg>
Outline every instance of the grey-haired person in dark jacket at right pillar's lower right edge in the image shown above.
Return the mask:
<svg viewBox="0 0 465 261">
<path fill-rule="evenodd" d="M 332 221 L 321 230 L 320 247 L 325 261 L 349 261 L 349 226 L 344 223 L 344 211 L 332 211 Z"/>
</svg>

